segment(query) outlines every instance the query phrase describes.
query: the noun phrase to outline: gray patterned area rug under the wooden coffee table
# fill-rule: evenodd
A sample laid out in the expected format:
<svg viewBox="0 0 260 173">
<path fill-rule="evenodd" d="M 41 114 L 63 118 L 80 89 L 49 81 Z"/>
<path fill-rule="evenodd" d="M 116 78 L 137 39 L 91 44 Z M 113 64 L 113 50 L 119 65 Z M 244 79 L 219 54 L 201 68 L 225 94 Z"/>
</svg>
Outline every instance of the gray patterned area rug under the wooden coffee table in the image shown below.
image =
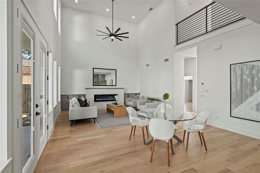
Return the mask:
<svg viewBox="0 0 260 173">
<path fill-rule="evenodd" d="M 114 118 L 114 112 L 106 112 L 106 109 L 98 110 L 97 123 L 100 129 L 131 124 L 127 116 Z"/>
</svg>

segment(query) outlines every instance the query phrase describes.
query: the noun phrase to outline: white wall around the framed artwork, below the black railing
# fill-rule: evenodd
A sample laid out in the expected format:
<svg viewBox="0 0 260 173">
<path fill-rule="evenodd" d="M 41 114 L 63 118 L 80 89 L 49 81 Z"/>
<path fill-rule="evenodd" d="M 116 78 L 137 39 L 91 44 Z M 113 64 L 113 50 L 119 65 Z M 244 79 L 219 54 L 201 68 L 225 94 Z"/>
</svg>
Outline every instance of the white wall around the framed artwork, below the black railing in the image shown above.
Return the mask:
<svg viewBox="0 0 260 173">
<path fill-rule="evenodd" d="M 212 112 L 207 123 L 260 139 L 260 124 L 230 117 L 230 64 L 259 60 L 260 26 L 256 23 L 187 46 L 197 46 L 197 112 Z M 219 50 L 214 46 L 222 45 Z M 201 85 L 205 82 L 205 85 Z M 200 89 L 207 89 L 205 97 Z M 219 119 L 216 119 L 216 116 Z"/>
</svg>

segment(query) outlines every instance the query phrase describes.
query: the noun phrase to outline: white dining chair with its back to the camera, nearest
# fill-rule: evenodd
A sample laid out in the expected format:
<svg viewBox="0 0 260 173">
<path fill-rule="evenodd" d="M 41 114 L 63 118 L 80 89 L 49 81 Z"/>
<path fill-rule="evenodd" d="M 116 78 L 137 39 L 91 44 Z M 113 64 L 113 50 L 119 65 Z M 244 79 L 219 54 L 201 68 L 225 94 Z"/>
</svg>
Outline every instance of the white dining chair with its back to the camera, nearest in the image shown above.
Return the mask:
<svg viewBox="0 0 260 173">
<path fill-rule="evenodd" d="M 150 162 L 152 161 L 153 158 L 155 141 L 163 140 L 166 141 L 168 166 L 170 166 L 169 141 L 171 145 L 171 154 L 173 155 L 172 138 L 174 133 L 177 131 L 177 128 L 171 121 L 162 120 L 162 119 L 150 119 L 148 124 L 149 124 L 150 134 L 153 137 Z"/>
</svg>

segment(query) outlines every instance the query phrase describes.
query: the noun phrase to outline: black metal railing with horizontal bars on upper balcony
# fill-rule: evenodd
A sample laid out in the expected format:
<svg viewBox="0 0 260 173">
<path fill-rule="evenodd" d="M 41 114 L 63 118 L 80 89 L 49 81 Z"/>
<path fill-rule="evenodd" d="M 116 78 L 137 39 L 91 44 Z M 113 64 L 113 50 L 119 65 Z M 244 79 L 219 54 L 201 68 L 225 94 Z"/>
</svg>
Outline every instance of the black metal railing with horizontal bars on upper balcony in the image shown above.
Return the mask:
<svg viewBox="0 0 260 173">
<path fill-rule="evenodd" d="M 244 18 L 227 7 L 212 2 L 176 24 L 176 43 L 186 42 Z"/>
</svg>

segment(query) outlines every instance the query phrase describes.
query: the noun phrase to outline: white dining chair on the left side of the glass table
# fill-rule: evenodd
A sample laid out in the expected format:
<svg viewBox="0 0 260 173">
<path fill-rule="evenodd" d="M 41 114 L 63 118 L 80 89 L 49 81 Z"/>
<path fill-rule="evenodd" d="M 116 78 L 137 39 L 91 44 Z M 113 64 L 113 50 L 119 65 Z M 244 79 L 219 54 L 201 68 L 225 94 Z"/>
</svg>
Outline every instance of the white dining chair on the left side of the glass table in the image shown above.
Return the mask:
<svg viewBox="0 0 260 173">
<path fill-rule="evenodd" d="M 129 114 L 130 123 L 132 124 L 129 140 L 131 139 L 131 136 L 132 136 L 133 127 L 134 127 L 134 133 L 135 133 L 136 126 L 141 126 L 142 127 L 142 131 L 143 131 L 143 127 L 145 126 L 147 137 L 149 138 L 148 129 L 147 129 L 148 119 L 141 120 L 140 118 L 137 118 L 136 110 L 134 108 L 132 108 L 132 107 L 127 107 L 126 110 L 127 110 L 128 114 Z M 143 144 L 145 144 L 144 131 L 143 131 Z"/>
</svg>

